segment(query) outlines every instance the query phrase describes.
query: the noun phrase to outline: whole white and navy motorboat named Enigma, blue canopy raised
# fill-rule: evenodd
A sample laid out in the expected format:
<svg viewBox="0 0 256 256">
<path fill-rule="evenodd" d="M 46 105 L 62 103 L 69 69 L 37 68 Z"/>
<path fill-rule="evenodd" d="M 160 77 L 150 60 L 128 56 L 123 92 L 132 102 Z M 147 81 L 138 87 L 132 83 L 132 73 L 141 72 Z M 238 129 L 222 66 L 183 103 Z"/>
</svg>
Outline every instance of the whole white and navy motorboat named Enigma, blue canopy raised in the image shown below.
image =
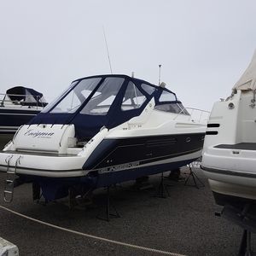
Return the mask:
<svg viewBox="0 0 256 256">
<path fill-rule="evenodd" d="M 164 83 L 77 79 L 20 126 L 0 153 L 0 170 L 37 184 L 47 201 L 171 171 L 201 156 L 202 116 L 193 118 Z"/>
</svg>

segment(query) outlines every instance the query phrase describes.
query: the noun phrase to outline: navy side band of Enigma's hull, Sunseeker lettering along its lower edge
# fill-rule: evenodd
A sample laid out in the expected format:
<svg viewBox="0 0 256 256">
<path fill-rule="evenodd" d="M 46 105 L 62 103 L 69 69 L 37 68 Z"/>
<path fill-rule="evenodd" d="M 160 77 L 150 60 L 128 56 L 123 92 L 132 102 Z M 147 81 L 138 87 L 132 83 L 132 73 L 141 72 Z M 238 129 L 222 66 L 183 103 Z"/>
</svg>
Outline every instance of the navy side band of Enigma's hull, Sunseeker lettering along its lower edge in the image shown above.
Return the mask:
<svg viewBox="0 0 256 256">
<path fill-rule="evenodd" d="M 150 166 L 201 152 L 205 133 L 185 133 L 102 140 L 84 163 L 84 170 L 111 172 L 127 166 Z M 200 157 L 200 154 L 197 154 Z"/>
</svg>

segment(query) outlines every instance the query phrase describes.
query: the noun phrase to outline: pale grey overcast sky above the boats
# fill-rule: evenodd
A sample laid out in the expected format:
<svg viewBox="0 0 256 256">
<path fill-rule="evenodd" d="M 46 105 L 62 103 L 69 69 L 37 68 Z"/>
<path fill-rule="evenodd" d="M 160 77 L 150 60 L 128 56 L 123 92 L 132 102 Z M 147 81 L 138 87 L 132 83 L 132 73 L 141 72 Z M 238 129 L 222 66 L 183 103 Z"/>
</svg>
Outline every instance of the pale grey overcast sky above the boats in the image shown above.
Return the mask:
<svg viewBox="0 0 256 256">
<path fill-rule="evenodd" d="M 113 73 L 158 83 L 210 110 L 256 48 L 256 2 L 0 0 L 0 89 L 23 85 L 50 102 L 74 79 Z"/>
</svg>

